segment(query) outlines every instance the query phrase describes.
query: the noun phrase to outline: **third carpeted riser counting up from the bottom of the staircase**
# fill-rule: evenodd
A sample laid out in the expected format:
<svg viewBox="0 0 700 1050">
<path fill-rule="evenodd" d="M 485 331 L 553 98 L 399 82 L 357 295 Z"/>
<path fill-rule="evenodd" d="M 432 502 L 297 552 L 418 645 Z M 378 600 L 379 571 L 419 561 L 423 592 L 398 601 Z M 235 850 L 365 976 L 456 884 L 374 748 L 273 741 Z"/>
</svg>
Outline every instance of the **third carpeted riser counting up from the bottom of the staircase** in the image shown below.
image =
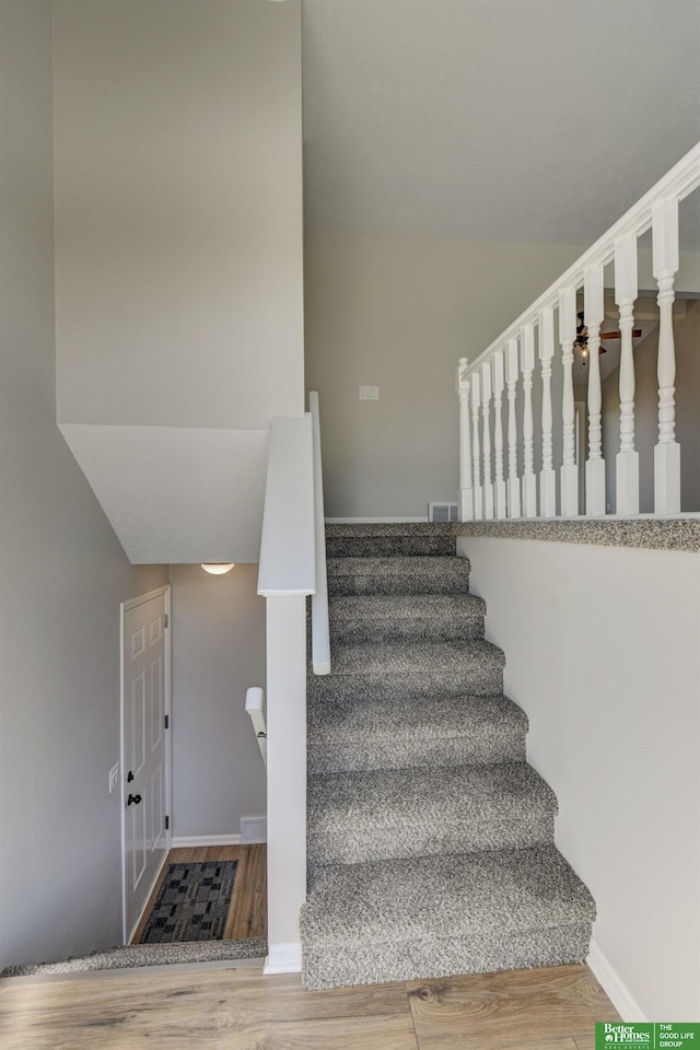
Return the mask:
<svg viewBox="0 0 700 1050">
<path fill-rule="evenodd" d="M 352 742 L 308 739 L 308 772 L 362 772 L 372 769 L 431 769 L 452 766 L 488 766 L 525 761 L 525 734 L 494 734 L 490 739 L 469 736 L 431 740 L 396 736 Z"/>
</svg>

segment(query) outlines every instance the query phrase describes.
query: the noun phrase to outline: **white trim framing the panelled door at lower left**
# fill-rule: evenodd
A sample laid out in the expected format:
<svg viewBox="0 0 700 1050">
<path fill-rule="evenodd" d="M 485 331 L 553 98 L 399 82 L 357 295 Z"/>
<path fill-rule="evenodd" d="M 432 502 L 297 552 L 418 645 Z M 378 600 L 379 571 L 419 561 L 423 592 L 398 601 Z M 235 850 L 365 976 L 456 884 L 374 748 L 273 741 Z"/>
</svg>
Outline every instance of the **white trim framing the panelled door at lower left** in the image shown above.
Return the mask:
<svg viewBox="0 0 700 1050">
<path fill-rule="evenodd" d="M 124 680 L 124 655 L 125 655 L 125 618 L 129 609 L 133 609 L 139 605 L 142 605 L 144 602 L 150 602 L 152 598 L 159 598 L 163 596 L 163 608 L 167 617 L 167 623 L 164 630 L 164 642 L 165 642 L 165 675 L 164 675 L 164 685 L 165 685 L 165 696 L 163 698 L 163 704 L 165 714 L 168 716 L 168 731 L 165 733 L 165 809 L 170 815 L 170 827 L 165 831 L 165 855 L 163 856 L 163 862 L 160 865 L 149 891 L 145 895 L 143 908 L 141 909 L 139 915 L 137 917 L 133 928 L 127 930 L 127 876 L 126 876 L 126 849 L 127 849 L 127 825 L 126 825 L 126 806 L 124 804 L 124 793 L 125 793 L 125 775 L 126 775 L 126 755 L 125 755 L 125 732 L 124 732 L 124 719 L 125 719 L 125 680 Z M 121 849 L 119 851 L 121 872 L 120 872 L 120 883 L 121 883 L 121 938 L 124 944 L 129 944 L 131 937 L 133 936 L 135 931 L 138 929 L 138 925 L 143 918 L 143 912 L 148 908 L 149 901 L 151 899 L 151 894 L 153 887 L 155 886 L 161 872 L 163 871 L 165 863 L 167 861 L 167 854 L 171 850 L 172 842 L 172 824 L 173 824 L 173 810 L 172 810 L 172 745 L 171 738 L 172 734 L 170 730 L 172 728 L 172 713 L 171 713 L 171 660 L 172 660 L 172 645 L 171 645 L 171 625 L 172 625 L 172 615 L 171 615 L 171 585 L 170 583 L 165 584 L 163 587 L 156 587 L 155 591 L 149 591 L 145 594 L 140 594 L 136 598 L 129 598 L 127 602 L 121 602 L 119 605 L 119 791 L 121 793 L 120 797 L 120 836 L 121 836 Z"/>
</svg>

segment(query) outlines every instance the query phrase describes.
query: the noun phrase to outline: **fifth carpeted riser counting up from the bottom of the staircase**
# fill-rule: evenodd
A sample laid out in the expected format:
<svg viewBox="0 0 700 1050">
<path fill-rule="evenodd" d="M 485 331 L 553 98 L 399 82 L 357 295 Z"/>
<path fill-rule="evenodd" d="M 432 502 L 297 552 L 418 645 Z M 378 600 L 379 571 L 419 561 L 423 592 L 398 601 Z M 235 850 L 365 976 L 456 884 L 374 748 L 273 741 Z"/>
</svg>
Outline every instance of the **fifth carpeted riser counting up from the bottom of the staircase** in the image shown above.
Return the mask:
<svg viewBox="0 0 700 1050">
<path fill-rule="evenodd" d="M 343 617 L 330 617 L 330 641 L 332 642 L 452 642 L 483 638 L 483 617 L 469 614 L 456 614 L 451 618 L 438 619 L 434 616 L 412 617 L 372 617 L 359 614 Z"/>
</svg>

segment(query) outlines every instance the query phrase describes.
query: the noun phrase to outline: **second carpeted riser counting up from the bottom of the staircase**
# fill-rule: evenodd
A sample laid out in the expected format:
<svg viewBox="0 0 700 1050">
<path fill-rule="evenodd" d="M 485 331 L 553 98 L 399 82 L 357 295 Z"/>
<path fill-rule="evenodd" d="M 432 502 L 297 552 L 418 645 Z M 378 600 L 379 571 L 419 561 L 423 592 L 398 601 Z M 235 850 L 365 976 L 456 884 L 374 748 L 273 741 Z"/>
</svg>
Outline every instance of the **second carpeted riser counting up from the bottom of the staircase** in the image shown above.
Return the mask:
<svg viewBox="0 0 700 1050">
<path fill-rule="evenodd" d="M 533 812 L 526 817 L 490 814 L 485 806 L 478 825 L 450 827 L 436 821 L 428 827 L 362 827 L 353 829 L 352 816 L 338 831 L 307 835 L 310 870 L 325 864 L 364 864 L 411 856 L 438 856 L 450 853 L 477 853 L 481 850 L 530 849 L 550 845 L 555 837 L 551 810 Z"/>
</svg>

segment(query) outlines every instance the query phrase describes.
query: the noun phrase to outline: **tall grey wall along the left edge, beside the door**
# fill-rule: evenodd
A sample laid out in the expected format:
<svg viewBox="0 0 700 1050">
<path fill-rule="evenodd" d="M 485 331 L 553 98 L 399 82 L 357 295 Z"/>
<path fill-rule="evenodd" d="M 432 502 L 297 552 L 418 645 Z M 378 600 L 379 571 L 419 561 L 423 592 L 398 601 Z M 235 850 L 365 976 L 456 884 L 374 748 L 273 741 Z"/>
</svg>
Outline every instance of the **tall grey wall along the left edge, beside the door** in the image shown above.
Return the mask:
<svg viewBox="0 0 700 1050">
<path fill-rule="evenodd" d="M 0 4 L 0 967 L 121 935 L 119 603 L 131 568 L 56 428 L 48 0 Z"/>
</svg>

